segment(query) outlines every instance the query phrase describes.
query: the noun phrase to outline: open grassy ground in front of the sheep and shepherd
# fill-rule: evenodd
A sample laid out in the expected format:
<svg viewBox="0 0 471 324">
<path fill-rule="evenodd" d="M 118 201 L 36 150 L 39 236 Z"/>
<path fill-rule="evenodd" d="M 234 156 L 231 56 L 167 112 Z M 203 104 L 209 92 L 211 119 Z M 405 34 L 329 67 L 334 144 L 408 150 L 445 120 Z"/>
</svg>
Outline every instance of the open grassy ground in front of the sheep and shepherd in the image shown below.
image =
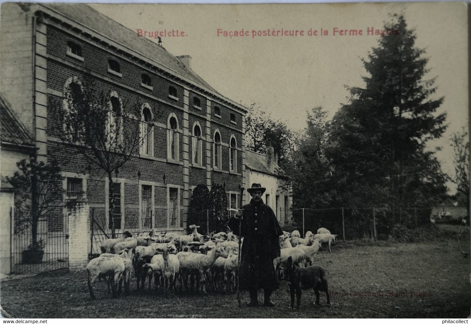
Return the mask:
<svg viewBox="0 0 471 324">
<path fill-rule="evenodd" d="M 435 317 L 470 314 L 470 259 L 455 239 L 427 243 L 333 245 L 320 251 L 318 264 L 329 280 L 331 306 L 313 306 L 315 295 L 304 291 L 301 308 L 289 308 L 286 282 L 273 293 L 276 307 L 237 307 L 234 294 L 171 295 L 147 291 L 111 298 L 97 283 L 91 300 L 86 272 L 56 272 L 2 282 L 2 308 L 12 317 L 27 318 L 162 318 L 162 317 Z M 468 248 L 469 251 L 469 248 Z M 245 303 L 248 294 L 244 292 Z M 259 292 L 262 301 L 263 292 Z"/>
</svg>

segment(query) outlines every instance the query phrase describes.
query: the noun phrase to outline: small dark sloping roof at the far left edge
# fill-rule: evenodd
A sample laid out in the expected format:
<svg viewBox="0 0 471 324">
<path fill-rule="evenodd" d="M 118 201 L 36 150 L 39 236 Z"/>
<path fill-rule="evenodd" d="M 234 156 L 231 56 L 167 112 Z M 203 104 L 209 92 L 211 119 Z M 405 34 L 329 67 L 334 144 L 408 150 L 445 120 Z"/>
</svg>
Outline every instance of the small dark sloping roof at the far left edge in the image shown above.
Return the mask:
<svg viewBox="0 0 471 324">
<path fill-rule="evenodd" d="M 0 94 L 0 141 L 33 146 L 31 135 L 16 119 L 10 107 L 4 96 Z"/>
</svg>

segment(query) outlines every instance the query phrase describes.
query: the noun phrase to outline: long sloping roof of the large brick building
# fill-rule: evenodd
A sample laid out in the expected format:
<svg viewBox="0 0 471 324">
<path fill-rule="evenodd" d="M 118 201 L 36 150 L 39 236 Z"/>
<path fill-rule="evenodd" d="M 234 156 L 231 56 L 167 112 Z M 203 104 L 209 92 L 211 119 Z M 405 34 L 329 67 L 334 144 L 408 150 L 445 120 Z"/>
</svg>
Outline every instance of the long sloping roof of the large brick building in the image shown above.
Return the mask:
<svg viewBox="0 0 471 324">
<path fill-rule="evenodd" d="M 59 12 L 67 18 L 126 47 L 129 47 L 154 62 L 181 74 L 187 79 L 194 81 L 196 84 L 217 92 L 198 74 L 196 74 L 195 71 L 185 66 L 177 57 L 167 52 L 164 47 L 159 46 L 157 43 L 146 39 L 145 37 L 137 37 L 135 31 L 130 30 L 86 4 L 43 3 L 41 6 Z"/>
</svg>

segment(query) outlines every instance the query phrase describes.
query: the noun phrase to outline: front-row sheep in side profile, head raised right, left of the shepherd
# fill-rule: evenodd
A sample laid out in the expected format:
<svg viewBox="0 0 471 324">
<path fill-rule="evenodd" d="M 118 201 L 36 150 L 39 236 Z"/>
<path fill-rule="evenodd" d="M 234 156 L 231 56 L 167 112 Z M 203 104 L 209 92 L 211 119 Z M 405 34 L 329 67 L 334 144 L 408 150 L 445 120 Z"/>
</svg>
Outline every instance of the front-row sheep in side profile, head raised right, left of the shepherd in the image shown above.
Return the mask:
<svg viewBox="0 0 471 324">
<path fill-rule="evenodd" d="M 207 248 L 208 249 L 208 248 Z M 177 256 L 180 261 L 180 290 L 182 289 L 182 280 L 185 284 L 185 289 L 188 291 L 188 274 L 199 275 L 196 278 L 196 291 L 200 290 L 200 280 L 203 278 L 202 290 L 205 288 L 205 278 L 204 274 L 211 265 L 216 261 L 219 256 L 227 258 L 227 253 L 224 248 L 216 246 L 214 249 L 211 249 L 210 253 L 207 255 L 203 253 L 191 253 L 191 252 L 179 252 Z M 192 282 L 193 288 L 193 282 Z"/>
</svg>

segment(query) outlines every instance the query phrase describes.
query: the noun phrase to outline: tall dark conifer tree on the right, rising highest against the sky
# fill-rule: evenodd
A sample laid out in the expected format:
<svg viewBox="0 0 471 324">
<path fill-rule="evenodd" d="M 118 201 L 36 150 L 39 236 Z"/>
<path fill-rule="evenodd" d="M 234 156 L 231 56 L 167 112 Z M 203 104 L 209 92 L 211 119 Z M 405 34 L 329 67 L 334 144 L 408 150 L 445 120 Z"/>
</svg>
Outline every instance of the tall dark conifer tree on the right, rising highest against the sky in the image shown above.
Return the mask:
<svg viewBox="0 0 471 324">
<path fill-rule="evenodd" d="M 330 158 L 350 194 L 363 189 L 351 202 L 425 205 L 445 191 L 439 163 L 426 150 L 446 129 L 446 113 L 435 114 L 443 97 L 431 98 L 435 78 L 425 79 L 428 58 L 415 47 L 415 32 L 404 17 L 392 16 L 384 29 L 390 35 L 362 60 L 369 74 L 365 87 L 350 88 L 349 103 L 333 119 L 329 141 L 338 145 Z"/>
</svg>

